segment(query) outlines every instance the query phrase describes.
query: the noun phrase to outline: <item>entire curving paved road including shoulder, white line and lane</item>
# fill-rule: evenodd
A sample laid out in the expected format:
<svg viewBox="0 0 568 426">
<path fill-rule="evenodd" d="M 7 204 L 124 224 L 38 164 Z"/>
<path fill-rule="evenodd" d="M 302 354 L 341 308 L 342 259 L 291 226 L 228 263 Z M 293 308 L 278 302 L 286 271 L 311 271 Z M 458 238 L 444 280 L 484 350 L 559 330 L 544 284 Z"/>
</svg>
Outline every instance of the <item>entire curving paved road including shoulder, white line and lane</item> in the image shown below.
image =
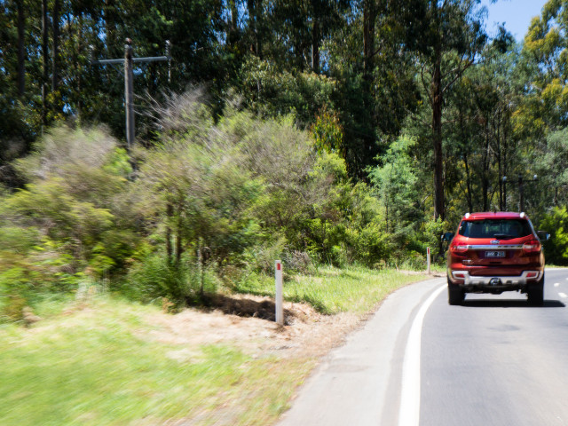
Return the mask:
<svg viewBox="0 0 568 426">
<path fill-rule="evenodd" d="M 568 424 L 568 270 L 545 304 L 468 295 L 446 280 L 401 288 L 300 390 L 279 426 Z"/>
</svg>

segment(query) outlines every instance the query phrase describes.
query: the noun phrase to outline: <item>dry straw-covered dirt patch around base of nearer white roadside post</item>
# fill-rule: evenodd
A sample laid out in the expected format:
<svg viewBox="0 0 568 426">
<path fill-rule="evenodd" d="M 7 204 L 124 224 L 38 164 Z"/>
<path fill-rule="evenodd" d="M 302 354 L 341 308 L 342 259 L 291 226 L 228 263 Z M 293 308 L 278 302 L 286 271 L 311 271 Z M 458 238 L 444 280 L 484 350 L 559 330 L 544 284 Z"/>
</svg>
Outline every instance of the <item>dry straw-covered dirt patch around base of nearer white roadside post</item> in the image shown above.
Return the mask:
<svg viewBox="0 0 568 426">
<path fill-rule="evenodd" d="M 179 361 L 200 358 L 202 344 L 228 343 L 254 358 L 265 356 L 320 357 L 343 342 L 361 317 L 352 313 L 323 315 L 309 304 L 284 303 L 285 325 L 274 323 L 274 302 L 268 297 L 217 296 L 209 311 L 186 309 L 154 314 L 159 326 L 150 338 L 181 345 L 168 356 Z"/>
</svg>

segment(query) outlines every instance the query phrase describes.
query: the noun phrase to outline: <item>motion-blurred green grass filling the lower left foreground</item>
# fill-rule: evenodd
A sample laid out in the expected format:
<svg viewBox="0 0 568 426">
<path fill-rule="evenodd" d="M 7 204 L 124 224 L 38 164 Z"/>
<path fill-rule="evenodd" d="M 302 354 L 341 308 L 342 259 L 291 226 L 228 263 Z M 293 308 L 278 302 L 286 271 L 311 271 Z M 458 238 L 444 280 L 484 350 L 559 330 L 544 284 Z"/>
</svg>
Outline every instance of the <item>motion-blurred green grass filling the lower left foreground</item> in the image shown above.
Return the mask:
<svg viewBox="0 0 568 426">
<path fill-rule="evenodd" d="M 145 425 L 198 415 L 198 424 L 265 424 L 286 407 L 308 366 L 251 359 L 234 348 L 186 348 L 148 338 L 152 306 L 98 299 L 31 329 L 0 327 L 0 424 Z M 257 406 L 264 409 L 257 414 Z M 251 421 L 251 419 L 254 419 Z"/>
</svg>

